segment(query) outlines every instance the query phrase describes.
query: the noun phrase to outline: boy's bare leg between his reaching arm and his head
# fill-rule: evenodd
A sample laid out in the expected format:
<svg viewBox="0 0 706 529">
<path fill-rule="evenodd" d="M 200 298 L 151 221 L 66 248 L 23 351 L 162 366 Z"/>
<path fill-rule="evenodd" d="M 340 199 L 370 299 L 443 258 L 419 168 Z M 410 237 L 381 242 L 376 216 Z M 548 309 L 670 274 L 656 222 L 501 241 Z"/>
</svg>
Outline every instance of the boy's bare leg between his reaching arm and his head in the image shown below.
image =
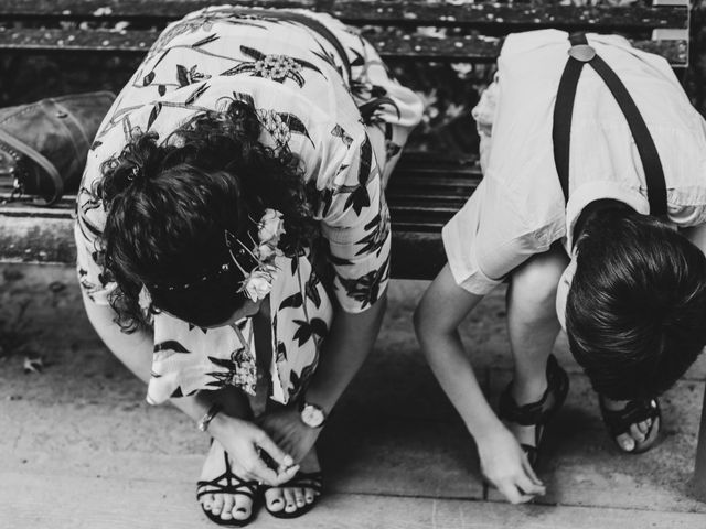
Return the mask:
<svg viewBox="0 0 706 529">
<path fill-rule="evenodd" d="M 546 364 L 560 325 L 556 288 L 569 260 L 555 246 L 512 273 L 507 289 L 507 330 L 515 360 L 512 395 L 518 404 L 539 400 L 547 388 Z M 509 424 L 521 443 L 534 445 L 534 427 Z"/>
</svg>

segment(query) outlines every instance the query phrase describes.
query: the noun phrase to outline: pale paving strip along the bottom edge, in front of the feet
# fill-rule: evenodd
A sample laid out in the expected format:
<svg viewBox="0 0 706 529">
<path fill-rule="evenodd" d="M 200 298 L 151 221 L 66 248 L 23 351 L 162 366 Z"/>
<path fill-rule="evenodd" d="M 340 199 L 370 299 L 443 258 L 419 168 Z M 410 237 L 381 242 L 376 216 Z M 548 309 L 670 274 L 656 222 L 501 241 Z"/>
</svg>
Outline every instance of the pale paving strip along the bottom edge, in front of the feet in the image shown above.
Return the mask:
<svg viewBox="0 0 706 529">
<path fill-rule="evenodd" d="M 215 527 L 180 484 L 0 473 L 0 527 L 13 529 L 206 529 Z M 51 498 L 38 501 L 38 494 Z M 589 509 L 328 495 L 306 517 L 261 512 L 253 529 L 703 529 L 694 512 Z"/>
</svg>

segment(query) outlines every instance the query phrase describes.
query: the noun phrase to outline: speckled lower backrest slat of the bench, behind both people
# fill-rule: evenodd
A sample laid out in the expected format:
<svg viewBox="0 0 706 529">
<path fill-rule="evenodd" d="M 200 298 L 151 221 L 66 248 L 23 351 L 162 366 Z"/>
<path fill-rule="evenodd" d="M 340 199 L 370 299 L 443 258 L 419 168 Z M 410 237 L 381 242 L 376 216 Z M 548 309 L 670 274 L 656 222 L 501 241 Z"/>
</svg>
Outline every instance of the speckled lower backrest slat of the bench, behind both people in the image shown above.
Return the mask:
<svg viewBox="0 0 706 529">
<path fill-rule="evenodd" d="M 38 30 L 0 28 L 0 50 L 35 52 L 110 52 L 115 54 L 147 53 L 157 40 L 158 31 L 107 30 Z M 439 62 L 492 62 L 500 53 L 501 39 L 456 36 L 437 39 L 427 35 L 398 35 L 381 32 L 366 35 L 384 58 L 432 60 Z M 635 40 L 640 50 L 657 53 L 674 66 L 687 61 L 686 41 Z"/>
</svg>

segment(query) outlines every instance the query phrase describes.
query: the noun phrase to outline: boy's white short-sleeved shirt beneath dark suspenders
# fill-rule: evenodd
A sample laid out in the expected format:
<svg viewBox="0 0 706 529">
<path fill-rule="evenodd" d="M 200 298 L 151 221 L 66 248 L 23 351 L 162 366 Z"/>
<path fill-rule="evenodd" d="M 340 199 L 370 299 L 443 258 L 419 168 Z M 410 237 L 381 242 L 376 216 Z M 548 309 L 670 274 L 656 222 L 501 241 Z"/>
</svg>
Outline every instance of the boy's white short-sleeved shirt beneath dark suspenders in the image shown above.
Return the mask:
<svg viewBox="0 0 706 529">
<path fill-rule="evenodd" d="M 677 227 L 706 222 L 706 122 L 668 63 L 634 50 L 621 36 L 588 41 L 623 82 L 652 134 L 667 184 L 668 217 Z M 628 122 L 603 80 L 585 67 L 571 123 L 569 201 L 554 163 L 552 127 L 568 34 L 541 30 L 510 35 L 498 77 L 473 109 L 481 134 L 483 180 L 445 226 L 456 282 L 478 295 L 515 267 L 571 233 L 598 198 L 649 213 L 644 172 Z"/>
</svg>

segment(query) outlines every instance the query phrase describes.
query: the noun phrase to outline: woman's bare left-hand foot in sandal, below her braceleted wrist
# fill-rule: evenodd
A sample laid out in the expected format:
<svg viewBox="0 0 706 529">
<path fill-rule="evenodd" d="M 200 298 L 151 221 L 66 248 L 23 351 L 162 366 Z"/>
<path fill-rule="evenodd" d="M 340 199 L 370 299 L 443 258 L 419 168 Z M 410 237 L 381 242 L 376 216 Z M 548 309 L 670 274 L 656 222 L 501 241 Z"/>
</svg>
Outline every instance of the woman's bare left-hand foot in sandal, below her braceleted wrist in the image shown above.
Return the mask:
<svg viewBox="0 0 706 529">
<path fill-rule="evenodd" d="M 204 461 L 201 477 L 199 479 L 210 482 L 222 476 L 225 471 L 225 451 L 221 443 L 214 439 L 211 450 L 206 455 L 206 460 Z M 227 484 L 225 477 L 220 479 L 217 483 L 220 485 Z M 237 485 L 237 482 L 233 485 Z M 207 485 L 201 486 L 199 487 L 197 493 L 210 488 L 215 487 L 210 487 Z M 248 489 L 246 487 L 243 487 L 244 493 Z M 204 510 L 211 511 L 215 516 L 220 516 L 222 520 L 245 520 L 250 516 L 253 510 L 253 499 L 245 494 L 225 494 L 214 492 L 213 494 L 204 494 L 199 498 L 199 501 L 201 501 Z"/>
</svg>

